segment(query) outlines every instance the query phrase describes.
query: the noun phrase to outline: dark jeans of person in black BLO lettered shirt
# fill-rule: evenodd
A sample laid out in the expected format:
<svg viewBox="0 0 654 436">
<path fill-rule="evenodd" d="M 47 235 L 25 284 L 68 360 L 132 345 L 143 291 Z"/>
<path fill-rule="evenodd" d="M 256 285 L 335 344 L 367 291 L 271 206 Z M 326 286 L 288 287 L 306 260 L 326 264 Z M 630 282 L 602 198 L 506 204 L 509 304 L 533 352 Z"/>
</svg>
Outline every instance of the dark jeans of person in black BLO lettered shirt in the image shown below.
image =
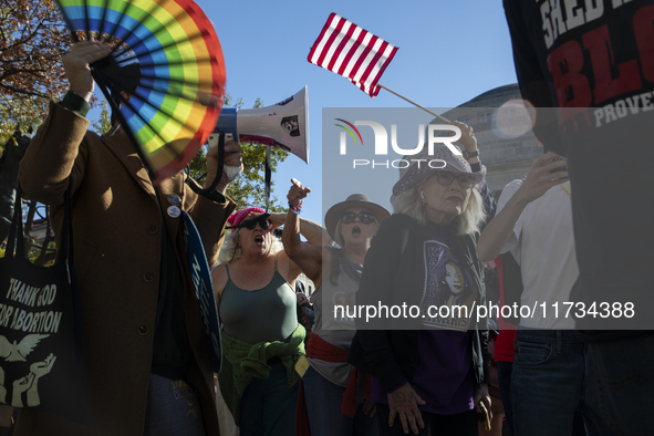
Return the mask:
<svg viewBox="0 0 654 436">
<path fill-rule="evenodd" d="M 589 434 L 654 435 L 654 334 L 588 346 Z"/>
</svg>

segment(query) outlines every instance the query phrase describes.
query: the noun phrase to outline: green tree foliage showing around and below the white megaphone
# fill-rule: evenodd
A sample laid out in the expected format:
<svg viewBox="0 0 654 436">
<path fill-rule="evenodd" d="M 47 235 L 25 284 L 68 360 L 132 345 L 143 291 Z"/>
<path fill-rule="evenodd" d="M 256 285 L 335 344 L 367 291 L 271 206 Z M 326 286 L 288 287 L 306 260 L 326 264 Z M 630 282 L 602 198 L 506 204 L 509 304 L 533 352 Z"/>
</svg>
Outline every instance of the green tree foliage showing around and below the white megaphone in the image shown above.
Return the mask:
<svg viewBox="0 0 654 436">
<path fill-rule="evenodd" d="M 229 106 L 232 103 L 231 96 L 228 94 L 225 98 L 225 105 Z M 242 100 L 235 102 L 233 107 L 240 108 Z M 262 107 L 263 102 L 257 98 L 255 108 Z M 266 208 L 266 145 L 241 143 L 243 173 L 236 180 L 231 181 L 227 187 L 227 195 L 235 200 L 238 208 L 250 206 L 258 206 Z M 277 166 L 288 157 L 289 153 L 283 149 L 272 147 L 270 163 L 272 173 L 274 174 Z M 189 164 L 189 174 L 200 184 L 205 183 L 207 154 L 206 149 L 201 148 L 197 156 Z M 286 196 L 286 193 L 284 193 Z M 282 196 L 282 198 L 286 198 Z M 283 211 L 287 209 L 286 201 L 280 204 L 277 196 L 274 196 L 274 181 L 272 181 L 270 194 L 270 210 Z"/>
</svg>

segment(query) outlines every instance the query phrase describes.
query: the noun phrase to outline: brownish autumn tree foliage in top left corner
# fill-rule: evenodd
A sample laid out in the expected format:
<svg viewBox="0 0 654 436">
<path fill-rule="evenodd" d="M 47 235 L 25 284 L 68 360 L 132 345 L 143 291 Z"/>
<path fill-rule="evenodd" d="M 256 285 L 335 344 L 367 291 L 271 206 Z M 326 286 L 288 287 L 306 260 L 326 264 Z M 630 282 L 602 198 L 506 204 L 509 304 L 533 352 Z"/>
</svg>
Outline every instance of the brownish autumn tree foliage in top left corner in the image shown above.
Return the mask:
<svg viewBox="0 0 654 436">
<path fill-rule="evenodd" d="M 54 0 L 0 1 L 0 144 L 14 126 L 37 128 L 68 82 L 61 63 L 70 35 Z"/>
</svg>

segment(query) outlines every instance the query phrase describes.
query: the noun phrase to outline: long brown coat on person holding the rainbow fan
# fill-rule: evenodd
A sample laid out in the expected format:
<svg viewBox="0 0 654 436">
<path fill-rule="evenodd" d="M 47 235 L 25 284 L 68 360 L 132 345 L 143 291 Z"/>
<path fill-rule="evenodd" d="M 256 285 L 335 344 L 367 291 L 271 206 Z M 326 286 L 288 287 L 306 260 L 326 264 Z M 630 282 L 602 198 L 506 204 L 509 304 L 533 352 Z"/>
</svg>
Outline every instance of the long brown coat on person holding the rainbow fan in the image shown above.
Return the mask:
<svg viewBox="0 0 654 436">
<path fill-rule="evenodd" d="M 218 435 L 209 346 L 189 278 L 180 218 L 166 214 L 177 194 L 191 215 L 209 264 L 218 258 L 231 200 L 196 196 L 184 176 L 164 181 L 159 204 L 126 136 L 86 133 L 89 122 L 60 105 L 39 128 L 21 163 L 23 196 L 55 206 L 61 229 L 65 189 L 72 189 L 74 257 L 87 346 L 90 425 L 21 411 L 17 435 L 143 436 L 159 289 L 162 217 L 185 282 L 186 328 L 193 347 L 187 382 L 198 390 L 208 435 Z"/>
</svg>

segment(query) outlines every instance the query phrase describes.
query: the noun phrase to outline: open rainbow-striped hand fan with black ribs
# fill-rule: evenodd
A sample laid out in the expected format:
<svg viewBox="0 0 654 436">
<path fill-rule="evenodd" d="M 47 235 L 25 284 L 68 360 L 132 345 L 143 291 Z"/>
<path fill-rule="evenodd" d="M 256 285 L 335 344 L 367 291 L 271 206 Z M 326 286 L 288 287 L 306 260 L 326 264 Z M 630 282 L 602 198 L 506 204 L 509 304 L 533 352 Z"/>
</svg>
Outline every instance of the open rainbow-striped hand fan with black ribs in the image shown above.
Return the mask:
<svg viewBox="0 0 654 436">
<path fill-rule="evenodd" d="M 177 174 L 214 131 L 225 96 L 222 51 L 203 10 L 191 0 L 58 3 L 73 40 L 113 46 L 92 74 L 153 183 Z"/>
</svg>

